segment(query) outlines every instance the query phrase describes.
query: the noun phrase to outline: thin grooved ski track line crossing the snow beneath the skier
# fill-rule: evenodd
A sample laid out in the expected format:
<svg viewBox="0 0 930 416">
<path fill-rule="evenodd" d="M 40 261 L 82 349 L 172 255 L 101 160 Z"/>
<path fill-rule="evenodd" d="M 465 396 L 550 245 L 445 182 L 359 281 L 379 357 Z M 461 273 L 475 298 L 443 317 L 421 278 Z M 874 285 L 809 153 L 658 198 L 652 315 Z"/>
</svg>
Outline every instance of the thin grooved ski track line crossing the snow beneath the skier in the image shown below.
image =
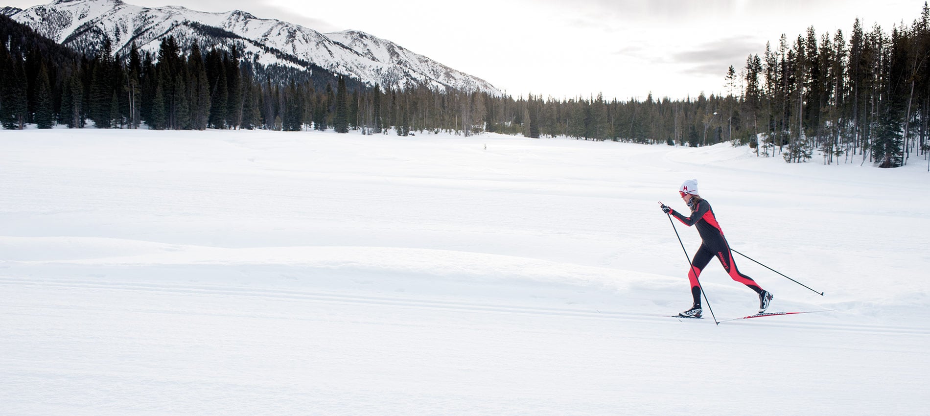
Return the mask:
<svg viewBox="0 0 930 416">
<path fill-rule="evenodd" d="M 102 289 L 102 290 L 127 290 L 136 292 L 150 293 L 173 293 L 190 296 L 234 296 L 245 298 L 269 299 L 269 300 L 286 300 L 286 301 L 303 301 L 303 302 L 326 302 L 343 305 L 370 305 L 370 306 L 396 306 L 405 308 L 417 308 L 427 310 L 445 310 L 461 311 L 470 313 L 489 313 L 489 314 L 510 314 L 510 315 L 540 315 L 540 316 L 558 316 L 558 317 L 578 317 L 586 319 L 616 319 L 632 321 L 656 321 L 656 322 L 685 322 L 685 318 L 676 319 L 673 315 L 644 314 L 624 311 L 601 311 L 601 310 L 581 310 L 566 308 L 547 308 L 532 307 L 506 304 L 489 304 L 489 303 L 472 303 L 472 302 L 452 302 L 452 301 L 429 301 L 413 298 L 394 298 L 394 297 L 376 297 L 376 296 L 351 296 L 338 295 L 323 292 L 309 292 L 286 289 L 254 289 L 254 288 L 236 288 L 225 286 L 209 285 L 157 285 L 145 283 L 107 283 L 94 281 L 34 281 L 25 279 L 15 279 L 0 277 L 0 286 L 27 286 L 49 289 Z M 8 308 L 13 306 L 0 305 Z M 102 308 L 93 307 L 67 307 L 67 306 L 31 306 L 33 308 L 49 309 L 82 309 L 82 310 L 102 310 Z M 144 311 L 162 314 L 172 314 L 170 311 Z M 21 315 L 15 313 L 3 313 L 4 315 Z M 216 314 L 207 314 L 216 315 Z M 252 315 L 243 315 L 252 316 Z M 695 319 L 689 319 L 695 320 Z M 712 323 L 713 319 L 705 317 L 698 322 Z M 839 323 L 822 323 L 822 322 L 784 322 L 784 321 L 762 321 L 762 322 L 743 322 L 739 320 L 726 322 L 727 326 L 735 325 L 763 325 L 768 327 L 794 328 L 794 329 L 811 329 L 811 330 L 837 330 L 845 332 L 868 332 L 882 334 L 900 334 L 900 335 L 930 335 L 930 328 L 920 327 L 892 327 L 886 325 L 872 324 L 839 324 Z M 693 325 L 688 324 L 688 325 Z"/>
</svg>

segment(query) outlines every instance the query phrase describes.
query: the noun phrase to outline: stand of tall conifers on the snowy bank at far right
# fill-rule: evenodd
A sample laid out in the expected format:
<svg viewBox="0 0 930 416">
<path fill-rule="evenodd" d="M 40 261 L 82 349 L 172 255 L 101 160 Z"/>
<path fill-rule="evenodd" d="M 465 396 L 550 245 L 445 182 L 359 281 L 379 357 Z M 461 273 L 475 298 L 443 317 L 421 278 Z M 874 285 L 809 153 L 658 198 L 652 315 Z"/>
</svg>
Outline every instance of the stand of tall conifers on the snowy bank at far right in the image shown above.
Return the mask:
<svg viewBox="0 0 930 416">
<path fill-rule="evenodd" d="M 718 107 L 725 138 L 754 141 L 763 151 L 800 162 L 821 150 L 824 163 L 859 155 L 883 168 L 927 154 L 930 120 L 930 11 L 891 34 L 856 20 L 843 31 L 813 27 L 794 40 L 785 35 L 762 57 L 751 55 L 740 73 L 731 66 L 728 94 Z M 725 125 L 725 126 L 724 126 Z"/>
</svg>

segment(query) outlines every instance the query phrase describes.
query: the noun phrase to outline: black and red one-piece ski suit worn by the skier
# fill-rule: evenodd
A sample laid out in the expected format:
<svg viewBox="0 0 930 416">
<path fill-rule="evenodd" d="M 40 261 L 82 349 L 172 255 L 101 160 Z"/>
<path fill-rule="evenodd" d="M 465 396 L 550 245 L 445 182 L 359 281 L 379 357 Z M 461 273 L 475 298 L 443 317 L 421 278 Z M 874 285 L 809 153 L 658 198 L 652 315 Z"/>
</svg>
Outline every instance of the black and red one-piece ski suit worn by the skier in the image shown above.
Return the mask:
<svg viewBox="0 0 930 416">
<path fill-rule="evenodd" d="M 691 261 L 692 269 L 688 272 L 688 280 L 691 282 L 691 295 L 694 297 L 694 304 L 699 306 L 700 302 L 700 283 L 697 280 L 697 276 L 700 275 L 700 272 L 704 270 L 704 267 L 707 266 L 711 259 L 717 257 L 720 260 L 720 263 L 724 265 L 724 270 L 733 280 L 736 280 L 739 283 L 742 283 L 748 286 L 750 289 L 755 290 L 756 293 L 762 292 L 762 288 L 756 284 L 755 280 L 752 280 L 750 276 L 743 275 L 737 270 L 737 263 L 733 262 L 733 253 L 730 251 L 730 246 L 726 243 L 726 238 L 724 237 L 724 230 L 720 228 L 720 224 L 717 223 L 717 218 L 713 215 L 713 209 L 711 204 L 705 199 L 693 199 L 694 204 L 697 205 L 694 208 L 694 211 L 691 212 L 691 216 L 685 217 L 682 214 L 679 214 L 678 211 L 672 210 L 671 215 L 673 215 L 678 221 L 682 221 L 684 225 L 697 226 L 697 234 L 700 235 L 701 245 L 695 253 L 694 260 Z"/>
</svg>

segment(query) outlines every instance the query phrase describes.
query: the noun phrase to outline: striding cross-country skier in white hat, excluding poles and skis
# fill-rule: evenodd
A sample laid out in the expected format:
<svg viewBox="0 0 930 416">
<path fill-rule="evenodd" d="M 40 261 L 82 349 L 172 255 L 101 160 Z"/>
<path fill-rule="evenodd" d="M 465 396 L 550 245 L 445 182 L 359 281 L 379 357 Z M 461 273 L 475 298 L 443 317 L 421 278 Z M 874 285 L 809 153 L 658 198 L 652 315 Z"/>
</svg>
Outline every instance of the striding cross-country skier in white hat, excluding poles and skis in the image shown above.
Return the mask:
<svg viewBox="0 0 930 416">
<path fill-rule="evenodd" d="M 730 246 L 726 243 L 726 238 L 724 238 L 724 230 L 720 228 L 720 224 L 713 215 L 711 204 L 708 203 L 706 199 L 701 198 L 700 195 L 697 195 L 697 181 L 693 179 L 684 181 L 681 189 L 678 191 L 679 194 L 682 195 L 684 203 L 688 205 L 688 208 L 691 208 L 691 215 L 685 217 L 665 204 L 662 204 L 662 212 L 671 214 L 677 218 L 678 221 L 682 221 L 684 225 L 689 227 L 697 225 L 697 234 L 699 234 L 701 238 L 700 248 L 697 249 L 694 260 L 691 261 L 692 269 L 688 272 L 688 280 L 691 281 L 691 296 L 694 297 L 694 304 L 691 305 L 691 309 L 678 315 L 684 317 L 700 317 L 701 289 L 700 283 L 697 281 L 697 276 L 700 275 L 704 267 L 711 262 L 713 257 L 717 257 L 717 259 L 720 260 L 720 263 L 724 265 L 724 270 L 726 270 L 726 273 L 729 274 L 733 280 L 748 286 L 759 294 L 759 313 L 762 314 L 765 312 L 765 309 L 768 308 L 768 303 L 772 301 L 772 294 L 760 288 L 759 284 L 757 284 L 755 280 L 752 280 L 750 276 L 743 275 L 737 270 L 737 263 L 733 262 L 733 253 L 730 252 Z"/>
</svg>

